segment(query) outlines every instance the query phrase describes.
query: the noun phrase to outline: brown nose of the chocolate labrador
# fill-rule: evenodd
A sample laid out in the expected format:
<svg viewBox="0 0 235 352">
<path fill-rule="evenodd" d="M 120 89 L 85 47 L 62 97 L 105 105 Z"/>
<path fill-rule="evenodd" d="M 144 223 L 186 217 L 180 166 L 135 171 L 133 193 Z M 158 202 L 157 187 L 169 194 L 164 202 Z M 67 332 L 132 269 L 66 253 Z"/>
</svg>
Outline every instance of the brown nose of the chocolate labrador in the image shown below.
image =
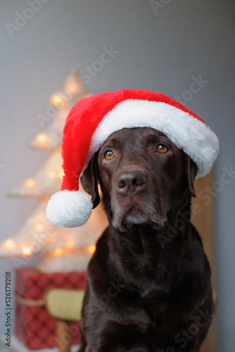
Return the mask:
<svg viewBox="0 0 235 352">
<path fill-rule="evenodd" d="M 125 172 L 120 175 L 117 188 L 120 193 L 136 193 L 140 191 L 144 184 L 146 183 L 146 176 L 143 172 L 140 171 L 132 171 Z"/>
</svg>

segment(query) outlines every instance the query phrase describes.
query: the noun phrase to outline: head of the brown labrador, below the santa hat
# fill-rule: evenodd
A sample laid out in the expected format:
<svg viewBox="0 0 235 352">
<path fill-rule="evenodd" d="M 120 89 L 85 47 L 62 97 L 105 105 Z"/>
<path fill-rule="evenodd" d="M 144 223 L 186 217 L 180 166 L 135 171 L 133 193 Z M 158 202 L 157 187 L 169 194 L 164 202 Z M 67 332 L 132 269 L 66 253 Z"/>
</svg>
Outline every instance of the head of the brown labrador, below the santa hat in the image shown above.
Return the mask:
<svg viewBox="0 0 235 352">
<path fill-rule="evenodd" d="M 163 133 L 148 127 L 113 132 L 91 159 L 81 178 L 94 208 L 98 182 L 112 225 L 160 228 L 170 208 L 195 196 L 196 164 Z"/>
</svg>

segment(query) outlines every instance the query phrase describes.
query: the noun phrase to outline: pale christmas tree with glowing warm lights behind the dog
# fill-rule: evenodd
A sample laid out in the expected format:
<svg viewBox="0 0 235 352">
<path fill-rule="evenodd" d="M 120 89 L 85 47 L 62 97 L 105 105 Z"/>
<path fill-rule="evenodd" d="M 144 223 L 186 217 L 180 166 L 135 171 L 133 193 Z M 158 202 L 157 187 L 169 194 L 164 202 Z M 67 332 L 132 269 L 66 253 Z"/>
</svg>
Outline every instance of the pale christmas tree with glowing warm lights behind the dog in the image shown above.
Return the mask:
<svg viewBox="0 0 235 352">
<path fill-rule="evenodd" d="M 38 197 L 40 202 L 23 227 L 0 244 L 0 258 L 30 258 L 43 253 L 38 268 L 50 271 L 85 270 L 94 253 L 96 239 L 107 225 L 101 206 L 81 227 L 69 229 L 51 224 L 46 218 L 50 196 L 61 188 L 63 178 L 61 142 L 70 108 L 90 96 L 76 69 L 65 79 L 62 89 L 49 99 L 46 115 L 37 115 L 44 127 L 30 147 L 51 151 L 51 156 L 35 175 L 8 190 L 8 196 Z M 45 128 L 46 126 L 46 128 Z M 22 260 L 20 260 L 22 263 Z"/>
</svg>

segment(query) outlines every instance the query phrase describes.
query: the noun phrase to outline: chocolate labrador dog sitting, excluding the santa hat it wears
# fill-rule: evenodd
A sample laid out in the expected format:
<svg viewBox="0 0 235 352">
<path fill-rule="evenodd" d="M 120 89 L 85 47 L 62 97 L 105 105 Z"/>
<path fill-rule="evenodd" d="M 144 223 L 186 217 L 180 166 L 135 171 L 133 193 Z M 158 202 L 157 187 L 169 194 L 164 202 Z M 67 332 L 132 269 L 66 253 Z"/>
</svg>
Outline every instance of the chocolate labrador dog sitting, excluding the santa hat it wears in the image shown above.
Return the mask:
<svg viewBox="0 0 235 352">
<path fill-rule="evenodd" d="M 88 268 L 80 352 L 199 351 L 214 304 L 190 222 L 196 164 L 148 127 L 110 134 L 82 175 L 110 225 Z"/>
</svg>

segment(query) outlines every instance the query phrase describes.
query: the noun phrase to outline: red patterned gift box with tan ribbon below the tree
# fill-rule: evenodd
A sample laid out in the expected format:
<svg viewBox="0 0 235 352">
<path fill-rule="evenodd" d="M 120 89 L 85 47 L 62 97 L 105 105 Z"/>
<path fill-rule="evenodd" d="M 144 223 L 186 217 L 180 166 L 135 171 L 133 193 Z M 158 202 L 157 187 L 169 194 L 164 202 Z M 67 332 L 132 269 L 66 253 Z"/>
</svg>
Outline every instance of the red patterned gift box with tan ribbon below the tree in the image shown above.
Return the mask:
<svg viewBox="0 0 235 352">
<path fill-rule="evenodd" d="M 45 273 L 37 269 L 16 270 L 15 335 L 30 350 L 56 346 L 56 320 L 44 306 L 50 288 L 84 290 L 87 272 Z M 80 344 L 80 328 L 71 322 L 72 344 Z"/>
</svg>

